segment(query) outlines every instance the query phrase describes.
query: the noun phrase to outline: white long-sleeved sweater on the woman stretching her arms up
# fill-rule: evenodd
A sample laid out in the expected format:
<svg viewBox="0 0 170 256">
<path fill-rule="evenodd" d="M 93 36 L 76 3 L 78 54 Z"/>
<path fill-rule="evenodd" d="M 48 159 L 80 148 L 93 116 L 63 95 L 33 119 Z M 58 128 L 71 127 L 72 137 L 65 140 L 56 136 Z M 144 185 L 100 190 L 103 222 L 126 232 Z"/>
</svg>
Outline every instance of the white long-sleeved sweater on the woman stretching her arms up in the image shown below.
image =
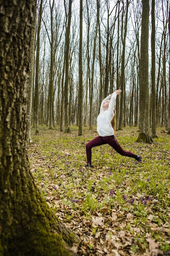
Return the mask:
<svg viewBox="0 0 170 256">
<path fill-rule="evenodd" d="M 98 115 L 98 118 L 97 118 L 97 132 L 101 137 L 114 135 L 114 130 L 110 122 L 114 116 L 113 110 L 114 110 L 116 97 L 117 97 L 116 92 L 113 92 L 112 94 L 107 96 L 101 103 L 100 114 Z M 107 100 L 110 100 L 109 108 L 108 110 L 104 110 L 102 105 L 103 105 L 103 102 Z"/>
</svg>

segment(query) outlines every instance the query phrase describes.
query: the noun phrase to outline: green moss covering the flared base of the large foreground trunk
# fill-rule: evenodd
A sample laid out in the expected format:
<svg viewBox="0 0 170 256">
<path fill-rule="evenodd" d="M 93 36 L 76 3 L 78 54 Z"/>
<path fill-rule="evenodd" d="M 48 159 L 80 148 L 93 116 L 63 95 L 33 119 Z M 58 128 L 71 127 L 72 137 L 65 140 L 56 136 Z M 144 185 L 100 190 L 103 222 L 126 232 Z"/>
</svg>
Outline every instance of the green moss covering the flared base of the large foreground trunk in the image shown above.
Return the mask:
<svg viewBox="0 0 170 256">
<path fill-rule="evenodd" d="M 15 195 L 16 197 L 11 198 L 11 202 L 4 203 L 6 207 L 1 216 L 2 233 L 0 236 L 0 245 L 3 245 L 3 248 L 0 247 L 0 253 L 2 252 L 0 255 L 70 255 L 66 244 L 72 243 L 74 234 L 71 232 L 68 238 L 64 235 L 63 239 L 57 227 L 57 218 L 44 198 L 37 193 L 35 187 L 32 186 L 32 193 L 18 187 Z M 10 207 L 7 207 L 7 204 Z M 0 208 L 2 212 L 2 205 Z"/>
</svg>

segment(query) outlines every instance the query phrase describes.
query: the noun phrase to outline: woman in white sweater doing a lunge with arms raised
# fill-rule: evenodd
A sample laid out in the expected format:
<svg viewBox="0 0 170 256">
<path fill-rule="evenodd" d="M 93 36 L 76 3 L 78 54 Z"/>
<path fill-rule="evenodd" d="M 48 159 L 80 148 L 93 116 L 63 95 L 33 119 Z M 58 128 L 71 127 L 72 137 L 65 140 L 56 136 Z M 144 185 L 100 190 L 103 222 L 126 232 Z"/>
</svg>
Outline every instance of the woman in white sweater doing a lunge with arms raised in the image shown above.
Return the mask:
<svg viewBox="0 0 170 256">
<path fill-rule="evenodd" d="M 126 157 L 135 158 L 138 162 L 142 162 L 142 157 L 139 155 L 135 155 L 130 151 L 125 151 L 119 145 L 118 141 L 114 136 L 114 126 L 115 126 L 115 110 L 114 105 L 116 101 L 117 95 L 120 95 L 122 90 L 116 90 L 109 96 L 107 96 L 101 103 L 100 106 L 100 114 L 97 118 L 97 132 L 99 134 L 98 137 L 92 139 L 86 144 L 86 155 L 87 155 L 87 166 L 92 166 L 92 148 L 96 146 L 101 146 L 104 144 L 109 144 L 112 148 L 114 148 L 120 155 Z"/>
</svg>

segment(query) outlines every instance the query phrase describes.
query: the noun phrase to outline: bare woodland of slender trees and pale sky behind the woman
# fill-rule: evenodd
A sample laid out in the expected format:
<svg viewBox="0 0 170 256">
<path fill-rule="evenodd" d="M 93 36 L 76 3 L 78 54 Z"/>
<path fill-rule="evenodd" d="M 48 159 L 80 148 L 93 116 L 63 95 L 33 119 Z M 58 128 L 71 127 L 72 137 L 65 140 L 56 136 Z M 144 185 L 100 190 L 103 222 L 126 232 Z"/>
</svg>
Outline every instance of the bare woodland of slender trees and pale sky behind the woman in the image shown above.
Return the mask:
<svg viewBox="0 0 170 256">
<path fill-rule="evenodd" d="M 116 104 L 117 129 L 139 125 L 140 87 L 141 99 L 148 90 L 143 103 L 148 104 L 148 126 L 169 127 L 170 2 L 153 0 L 143 8 L 149 11 L 146 89 L 139 85 L 140 52 L 147 47 L 141 45 L 142 1 L 37 2 L 32 115 L 28 108 L 36 133 L 42 124 L 60 125 L 61 131 L 64 124 L 65 132 L 76 124 L 82 135 L 82 124 L 90 129 L 96 124 L 101 100 L 117 88 L 122 89 Z M 157 136 L 155 130 L 152 136 Z"/>
</svg>

